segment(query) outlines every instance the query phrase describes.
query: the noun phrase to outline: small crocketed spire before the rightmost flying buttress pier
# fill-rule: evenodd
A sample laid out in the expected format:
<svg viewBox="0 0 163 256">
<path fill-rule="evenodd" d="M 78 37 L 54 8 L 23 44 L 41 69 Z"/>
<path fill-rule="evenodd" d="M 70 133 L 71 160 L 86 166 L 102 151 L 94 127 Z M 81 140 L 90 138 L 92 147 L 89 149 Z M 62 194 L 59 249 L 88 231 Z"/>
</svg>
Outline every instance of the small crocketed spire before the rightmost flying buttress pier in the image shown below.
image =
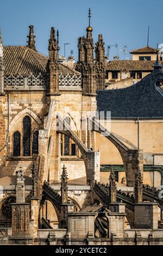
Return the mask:
<svg viewBox="0 0 163 256">
<path fill-rule="evenodd" d="M 139 170 L 139 173 L 135 174 L 135 203 L 142 203 L 142 185 L 143 185 L 143 176 Z"/>
</svg>

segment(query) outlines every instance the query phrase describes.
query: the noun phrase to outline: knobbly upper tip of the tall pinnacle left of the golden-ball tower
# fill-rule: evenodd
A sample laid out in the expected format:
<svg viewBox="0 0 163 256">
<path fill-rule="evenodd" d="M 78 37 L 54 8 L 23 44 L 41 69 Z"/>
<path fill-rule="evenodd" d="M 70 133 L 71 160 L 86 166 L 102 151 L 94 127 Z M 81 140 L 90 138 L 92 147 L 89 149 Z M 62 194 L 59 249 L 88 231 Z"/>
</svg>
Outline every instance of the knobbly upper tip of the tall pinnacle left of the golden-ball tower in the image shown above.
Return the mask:
<svg viewBox="0 0 163 256">
<path fill-rule="evenodd" d="M 58 47 L 57 39 L 55 38 L 55 30 L 54 27 L 52 27 L 48 46 L 49 59 L 51 60 L 51 62 L 57 62 L 59 49 L 60 48 Z"/>
</svg>

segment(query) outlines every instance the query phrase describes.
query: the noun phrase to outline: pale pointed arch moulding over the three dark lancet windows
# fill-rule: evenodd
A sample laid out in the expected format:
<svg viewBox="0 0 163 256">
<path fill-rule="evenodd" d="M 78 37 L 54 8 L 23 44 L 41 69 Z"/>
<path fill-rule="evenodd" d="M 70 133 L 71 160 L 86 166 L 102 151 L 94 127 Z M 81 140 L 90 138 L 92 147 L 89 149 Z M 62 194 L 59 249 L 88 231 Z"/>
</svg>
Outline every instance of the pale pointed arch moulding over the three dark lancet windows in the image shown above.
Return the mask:
<svg viewBox="0 0 163 256">
<path fill-rule="evenodd" d="M 12 129 L 13 129 L 13 127 L 16 125 L 16 123 L 17 123 L 17 121 L 18 120 L 20 120 L 22 117 L 23 117 L 23 115 L 29 115 L 30 117 L 32 117 L 35 121 L 36 121 L 36 123 L 39 125 L 39 126 L 43 126 L 43 123 L 42 123 L 42 121 L 40 120 L 40 118 L 39 117 L 37 117 L 37 115 L 32 111 L 32 110 L 30 110 L 29 108 L 25 108 L 25 109 L 23 109 L 20 113 L 18 113 L 17 115 L 16 115 L 16 117 L 14 117 L 14 119 L 12 119 L 12 121 L 11 121 L 11 123 L 10 123 L 10 129 L 9 129 L 9 131 L 12 131 Z"/>
</svg>

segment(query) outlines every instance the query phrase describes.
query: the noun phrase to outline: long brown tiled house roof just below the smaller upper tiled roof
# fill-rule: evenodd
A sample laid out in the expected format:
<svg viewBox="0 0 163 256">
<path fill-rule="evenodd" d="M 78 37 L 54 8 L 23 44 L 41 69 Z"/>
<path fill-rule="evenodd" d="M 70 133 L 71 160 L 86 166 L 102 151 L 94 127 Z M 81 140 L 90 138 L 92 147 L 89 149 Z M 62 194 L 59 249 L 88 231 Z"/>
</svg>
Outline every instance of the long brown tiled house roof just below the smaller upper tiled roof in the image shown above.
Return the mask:
<svg viewBox="0 0 163 256">
<path fill-rule="evenodd" d="M 106 70 L 121 72 L 152 71 L 154 64 L 155 61 L 153 60 L 112 60 L 106 65 Z"/>
</svg>

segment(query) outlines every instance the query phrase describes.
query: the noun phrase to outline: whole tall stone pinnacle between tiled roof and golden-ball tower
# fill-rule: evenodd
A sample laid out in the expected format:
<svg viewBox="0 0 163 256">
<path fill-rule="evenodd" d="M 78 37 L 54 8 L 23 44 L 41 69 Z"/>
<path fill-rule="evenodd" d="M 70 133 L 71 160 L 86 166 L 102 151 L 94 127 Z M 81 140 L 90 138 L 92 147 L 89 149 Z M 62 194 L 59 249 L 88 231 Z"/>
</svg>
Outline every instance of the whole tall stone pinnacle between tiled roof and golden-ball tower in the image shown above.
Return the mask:
<svg viewBox="0 0 163 256">
<path fill-rule="evenodd" d="M 51 37 L 49 39 L 49 61 L 48 69 L 48 95 L 59 95 L 59 66 L 58 66 L 58 43 L 55 38 L 55 30 L 51 28 Z"/>
</svg>

